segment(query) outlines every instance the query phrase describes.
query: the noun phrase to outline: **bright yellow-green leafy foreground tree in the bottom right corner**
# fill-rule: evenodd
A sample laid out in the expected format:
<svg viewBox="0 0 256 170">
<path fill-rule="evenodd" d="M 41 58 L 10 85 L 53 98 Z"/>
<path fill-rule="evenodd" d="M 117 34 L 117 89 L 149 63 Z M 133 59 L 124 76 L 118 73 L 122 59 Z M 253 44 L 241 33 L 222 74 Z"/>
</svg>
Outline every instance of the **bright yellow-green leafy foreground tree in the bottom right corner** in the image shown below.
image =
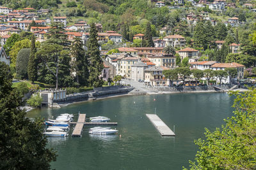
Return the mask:
<svg viewBox="0 0 256 170">
<path fill-rule="evenodd" d="M 236 97 L 234 116 L 213 132 L 205 128 L 205 138 L 195 141 L 199 150 L 190 169 L 255 169 L 256 89 L 230 94 Z"/>
</svg>

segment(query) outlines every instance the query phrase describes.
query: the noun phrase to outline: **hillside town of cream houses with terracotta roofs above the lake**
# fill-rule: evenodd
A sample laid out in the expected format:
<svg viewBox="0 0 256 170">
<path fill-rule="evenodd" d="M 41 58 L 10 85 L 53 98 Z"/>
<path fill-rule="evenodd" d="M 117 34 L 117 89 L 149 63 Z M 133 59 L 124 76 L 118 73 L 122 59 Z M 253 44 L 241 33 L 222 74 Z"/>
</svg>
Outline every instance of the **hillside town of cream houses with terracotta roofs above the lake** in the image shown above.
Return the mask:
<svg viewBox="0 0 256 170">
<path fill-rule="evenodd" d="M 174 3 L 176 6 L 167 7 L 170 9 L 177 7 L 177 9 L 179 9 L 182 8 L 184 4 L 185 6 L 186 4 L 190 4 L 190 6 L 196 8 L 209 8 L 209 10 L 216 12 L 229 8 L 236 9 L 235 3 L 227 3 L 224 0 L 216 0 L 214 2 L 199 1 L 198 3 L 195 1 L 175 1 Z M 155 6 L 156 8 L 166 8 L 166 4 L 163 1 L 156 2 Z M 244 3 L 243 8 L 254 12 L 253 4 Z M 4 52 L 4 46 L 6 46 L 6 42 L 13 34 L 25 34 L 24 32 L 29 32 L 29 34 L 35 35 L 36 42 L 44 43 L 44 41 L 47 40 L 47 34 L 51 29 L 52 23 L 61 23 L 63 25 L 62 27 L 65 29 L 65 35 L 70 45 L 76 38 L 79 38 L 83 42 L 83 48 L 86 49 L 86 43 L 90 38 L 90 24 L 88 24 L 86 20 L 79 20 L 74 22 L 74 24 L 70 24 L 68 17 L 42 17 L 50 12 L 51 10 L 36 10 L 34 8 L 13 10 L 12 8 L 2 6 L 0 8 L 0 13 L 2 13 L 0 18 L 3 23 L 0 25 L 2 46 L 1 61 L 6 62 L 8 65 L 11 63 L 10 56 L 6 55 L 6 52 Z M 200 11 L 199 13 L 197 11 L 196 13 L 189 12 L 184 18 L 180 19 L 182 20 L 181 23 L 187 25 L 185 27 L 191 27 L 191 29 L 196 29 L 196 25 L 203 22 L 211 24 L 209 25 L 210 28 L 217 27 L 218 25 L 223 27 L 224 25 L 224 27 L 230 30 L 237 30 L 236 27 L 241 27 L 241 25 L 245 24 L 244 20 L 241 21 L 241 19 L 237 17 L 230 17 L 221 22 L 216 21 L 214 18 L 210 17 L 208 11 Z M 240 55 L 242 53 L 241 46 L 244 45 L 240 45 L 236 38 L 234 38 L 233 41 L 227 39 L 230 41 L 228 44 L 223 38 L 215 38 L 214 41 L 209 42 L 211 45 L 208 45 L 207 50 L 205 50 L 204 48 L 200 48 L 200 45 L 196 46 L 195 40 L 182 36 L 184 32 L 179 31 L 181 28 L 177 26 L 170 27 L 170 25 L 165 25 L 159 29 L 159 37 L 153 37 L 152 32 L 149 32 L 151 36 L 150 39 L 148 39 L 147 30 L 147 35 L 145 35 L 145 32 L 134 34 L 132 42 L 131 39 L 126 39 L 127 35 L 122 35 L 124 31 L 119 33 L 111 30 L 106 31 L 102 28 L 102 24 L 100 23 L 95 23 L 95 26 L 97 28 L 97 40 L 100 44 L 100 57 L 104 62 L 104 69 L 102 69 L 100 77 L 104 81 L 113 80 L 115 76 L 120 75 L 122 78 L 141 81 L 147 86 L 170 86 L 170 81 L 168 77 L 163 74 L 163 70 L 183 66 L 189 67 L 191 71 L 193 71 L 193 69 L 202 71 L 205 69 L 211 69 L 212 71 L 225 70 L 227 68 L 237 69 L 236 76 L 232 75 L 232 78 L 224 76 L 223 83 L 230 83 L 230 81 L 239 83 L 240 80 L 244 81 L 245 76 L 248 76 L 248 71 L 246 71 L 248 66 L 244 66 L 241 62 L 237 63 L 237 60 L 231 59 L 229 61 L 226 56 L 226 60 L 218 60 L 218 57 L 215 57 L 214 60 L 214 58 L 209 57 L 209 55 L 214 52 L 221 52 L 223 45 L 227 46 L 228 55 Z M 179 32 L 182 35 L 177 34 Z M 144 43 L 145 41 L 152 41 L 152 44 L 148 45 Z M 106 49 L 106 46 L 108 46 L 108 49 Z M 168 48 L 171 48 L 172 52 L 168 52 Z M 211 54 L 207 53 L 207 51 L 211 51 Z M 221 55 L 221 53 L 219 55 Z M 254 64 L 249 67 L 253 66 Z M 246 73 L 244 73 L 244 71 L 246 71 Z M 150 75 L 148 73 L 150 73 Z M 76 71 L 73 71 L 72 75 L 75 76 Z M 188 81 L 193 81 L 193 77 L 194 75 L 191 73 Z M 177 80 L 179 80 L 179 78 L 177 78 Z M 206 80 L 206 78 L 202 76 L 202 80 Z M 214 83 L 220 83 L 220 78 L 218 78 L 217 75 L 212 76 L 212 80 L 215 80 Z M 180 83 L 185 82 L 177 81 L 175 85 L 179 85 Z"/>
</svg>

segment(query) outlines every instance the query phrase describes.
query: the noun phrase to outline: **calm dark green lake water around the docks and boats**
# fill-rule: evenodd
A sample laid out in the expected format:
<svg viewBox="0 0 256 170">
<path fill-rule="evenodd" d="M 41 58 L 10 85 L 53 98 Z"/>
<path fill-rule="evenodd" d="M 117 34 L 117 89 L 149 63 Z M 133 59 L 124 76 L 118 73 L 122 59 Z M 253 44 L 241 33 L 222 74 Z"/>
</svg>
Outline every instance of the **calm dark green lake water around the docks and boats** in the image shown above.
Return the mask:
<svg viewBox="0 0 256 170">
<path fill-rule="evenodd" d="M 156 99 L 156 100 L 154 100 Z M 118 135 L 89 135 L 84 126 L 81 138 L 49 138 L 58 152 L 55 169 L 182 169 L 195 159 L 194 140 L 204 137 L 204 128 L 221 127 L 232 116 L 232 97 L 226 93 L 162 94 L 125 96 L 70 104 L 59 109 L 42 108 L 28 117 L 51 118 L 60 113 L 106 116 L 118 122 Z M 154 113 L 173 129 L 175 137 L 161 137 L 145 116 Z M 70 131 L 70 135 L 72 130 Z M 122 135 L 120 138 L 119 135 Z"/>
</svg>

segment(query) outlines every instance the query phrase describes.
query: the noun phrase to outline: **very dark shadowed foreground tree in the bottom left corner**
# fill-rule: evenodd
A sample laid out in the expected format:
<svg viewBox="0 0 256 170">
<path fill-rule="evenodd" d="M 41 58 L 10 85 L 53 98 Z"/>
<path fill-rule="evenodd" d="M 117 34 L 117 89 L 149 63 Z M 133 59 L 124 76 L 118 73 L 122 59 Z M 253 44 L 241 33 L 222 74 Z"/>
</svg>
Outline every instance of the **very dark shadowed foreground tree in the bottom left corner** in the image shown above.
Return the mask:
<svg viewBox="0 0 256 170">
<path fill-rule="evenodd" d="M 0 62 L 0 169 L 51 169 L 56 154 L 46 148 L 43 121 L 26 118 L 22 96 L 12 88 L 10 68 Z"/>
</svg>

